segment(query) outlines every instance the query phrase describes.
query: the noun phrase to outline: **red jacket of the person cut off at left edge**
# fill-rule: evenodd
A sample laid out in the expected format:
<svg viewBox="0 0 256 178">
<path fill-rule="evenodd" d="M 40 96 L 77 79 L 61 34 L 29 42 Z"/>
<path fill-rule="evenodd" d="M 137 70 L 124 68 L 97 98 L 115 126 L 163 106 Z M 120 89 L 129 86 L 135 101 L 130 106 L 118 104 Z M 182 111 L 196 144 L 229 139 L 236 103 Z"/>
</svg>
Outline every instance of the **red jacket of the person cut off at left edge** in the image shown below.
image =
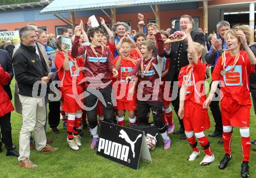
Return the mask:
<svg viewBox="0 0 256 178">
<path fill-rule="evenodd" d="M 3 85 L 8 84 L 11 79 L 8 72 L 0 66 L 0 117 L 14 110 L 9 96 L 3 89 Z"/>
</svg>

